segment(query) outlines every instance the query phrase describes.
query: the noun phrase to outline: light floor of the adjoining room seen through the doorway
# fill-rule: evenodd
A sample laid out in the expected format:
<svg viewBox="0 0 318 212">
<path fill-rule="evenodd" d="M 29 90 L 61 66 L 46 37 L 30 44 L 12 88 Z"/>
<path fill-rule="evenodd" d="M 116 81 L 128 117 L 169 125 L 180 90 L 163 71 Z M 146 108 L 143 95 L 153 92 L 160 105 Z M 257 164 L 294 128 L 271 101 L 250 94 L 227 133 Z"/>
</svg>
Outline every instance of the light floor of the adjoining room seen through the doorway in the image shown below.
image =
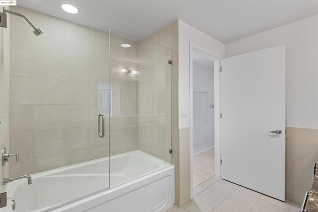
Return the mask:
<svg viewBox="0 0 318 212">
<path fill-rule="evenodd" d="M 214 148 L 193 155 L 193 187 L 214 176 Z"/>
</svg>

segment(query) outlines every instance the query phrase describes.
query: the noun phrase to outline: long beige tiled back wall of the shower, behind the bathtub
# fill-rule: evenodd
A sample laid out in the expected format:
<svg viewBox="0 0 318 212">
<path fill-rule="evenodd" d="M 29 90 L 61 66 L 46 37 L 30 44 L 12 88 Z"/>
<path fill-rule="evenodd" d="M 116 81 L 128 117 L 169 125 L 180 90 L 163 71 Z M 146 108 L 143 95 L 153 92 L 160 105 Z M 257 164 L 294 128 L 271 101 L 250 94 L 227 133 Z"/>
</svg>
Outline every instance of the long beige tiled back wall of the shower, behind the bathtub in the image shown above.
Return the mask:
<svg viewBox="0 0 318 212">
<path fill-rule="evenodd" d="M 20 161 L 10 161 L 10 176 L 107 156 L 109 142 L 110 154 L 137 149 L 138 78 L 117 72 L 121 64 L 136 63 L 137 44 L 120 49 L 122 39 L 111 36 L 109 65 L 108 33 L 22 7 L 12 10 L 44 33 L 35 36 L 25 20 L 11 17 L 9 146 L 20 152 Z M 103 139 L 97 135 L 101 85 L 120 94 Z"/>
</svg>

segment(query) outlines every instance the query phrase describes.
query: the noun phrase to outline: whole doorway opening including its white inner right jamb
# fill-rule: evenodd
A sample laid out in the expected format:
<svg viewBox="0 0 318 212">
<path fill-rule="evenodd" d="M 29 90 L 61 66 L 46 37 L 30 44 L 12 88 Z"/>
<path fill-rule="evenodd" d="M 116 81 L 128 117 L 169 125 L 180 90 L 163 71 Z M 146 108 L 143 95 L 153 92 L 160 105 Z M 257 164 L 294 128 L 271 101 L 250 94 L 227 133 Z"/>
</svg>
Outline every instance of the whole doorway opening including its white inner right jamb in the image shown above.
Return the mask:
<svg viewBox="0 0 318 212">
<path fill-rule="evenodd" d="M 191 197 L 220 176 L 220 59 L 190 44 Z"/>
</svg>

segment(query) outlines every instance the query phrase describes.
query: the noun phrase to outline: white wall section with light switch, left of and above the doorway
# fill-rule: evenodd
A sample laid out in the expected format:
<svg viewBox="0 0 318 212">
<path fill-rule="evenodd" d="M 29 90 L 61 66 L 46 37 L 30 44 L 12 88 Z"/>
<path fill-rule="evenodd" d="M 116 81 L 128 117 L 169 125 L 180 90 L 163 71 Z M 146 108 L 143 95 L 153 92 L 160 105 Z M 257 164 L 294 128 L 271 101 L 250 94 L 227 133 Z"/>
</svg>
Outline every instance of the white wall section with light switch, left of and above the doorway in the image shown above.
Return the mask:
<svg viewBox="0 0 318 212">
<path fill-rule="evenodd" d="M 214 52 L 224 58 L 225 45 L 220 41 L 179 20 L 179 129 L 190 127 L 190 117 L 181 117 L 181 107 L 190 111 L 190 61 L 189 43 L 201 50 Z"/>
</svg>

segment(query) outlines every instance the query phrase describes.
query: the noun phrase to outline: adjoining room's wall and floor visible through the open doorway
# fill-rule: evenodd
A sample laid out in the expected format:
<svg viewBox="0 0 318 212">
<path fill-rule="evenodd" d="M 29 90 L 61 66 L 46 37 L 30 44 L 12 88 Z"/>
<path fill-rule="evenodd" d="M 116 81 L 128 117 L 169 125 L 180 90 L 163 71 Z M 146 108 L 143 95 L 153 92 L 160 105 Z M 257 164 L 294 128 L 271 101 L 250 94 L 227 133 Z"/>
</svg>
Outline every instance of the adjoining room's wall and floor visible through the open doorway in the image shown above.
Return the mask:
<svg viewBox="0 0 318 212">
<path fill-rule="evenodd" d="M 193 187 L 214 172 L 214 61 L 193 54 Z"/>
</svg>

